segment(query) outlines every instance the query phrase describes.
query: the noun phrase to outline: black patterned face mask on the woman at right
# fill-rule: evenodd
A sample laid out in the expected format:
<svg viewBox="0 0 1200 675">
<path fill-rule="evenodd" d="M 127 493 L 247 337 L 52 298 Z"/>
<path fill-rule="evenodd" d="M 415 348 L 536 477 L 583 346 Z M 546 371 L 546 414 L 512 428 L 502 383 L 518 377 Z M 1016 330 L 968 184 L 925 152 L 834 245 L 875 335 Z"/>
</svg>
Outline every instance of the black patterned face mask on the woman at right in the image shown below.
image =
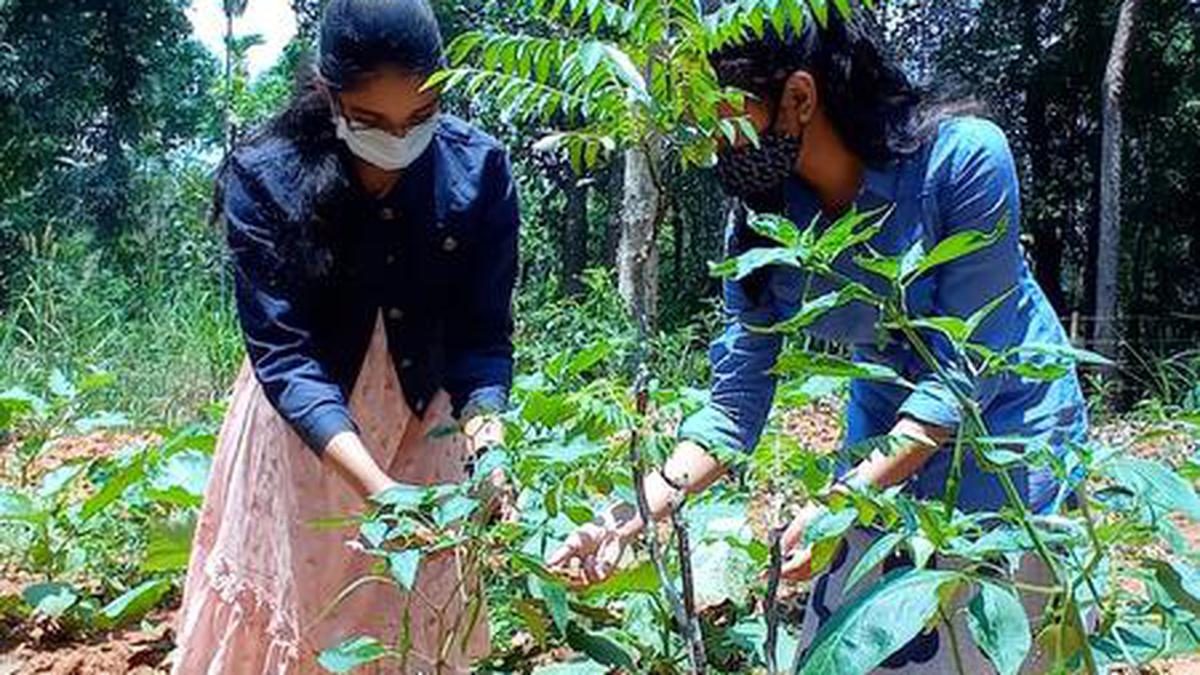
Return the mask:
<svg viewBox="0 0 1200 675">
<path fill-rule="evenodd" d="M 716 178 L 727 195 L 742 199 L 755 211 L 779 214 L 786 208 L 784 186 L 799 153 L 799 136 L 766 131 L 758 136 L 758 145 L 721 150 Z"/>
</svg>

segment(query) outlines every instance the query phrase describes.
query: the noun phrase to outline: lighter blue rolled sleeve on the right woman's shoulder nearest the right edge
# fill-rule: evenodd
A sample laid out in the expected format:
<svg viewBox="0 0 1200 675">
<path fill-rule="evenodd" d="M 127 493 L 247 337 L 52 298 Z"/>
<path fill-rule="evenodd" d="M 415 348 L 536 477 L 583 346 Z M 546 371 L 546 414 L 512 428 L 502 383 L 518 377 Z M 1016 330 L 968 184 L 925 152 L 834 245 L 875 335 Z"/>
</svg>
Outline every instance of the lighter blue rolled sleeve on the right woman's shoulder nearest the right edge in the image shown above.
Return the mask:
<svg viewBox="0 0 1200 675">
<path fill-rule="evenodd" d="M 1013 154 L 996 125 L 964 119 L 953 123 L 943 133 L 947 141 L 935 147 L 932 159 L 940 172 L 935 199 L 941 237 L 971 229 L 991 232 L 1007 220 L 1000 240 L 934 271 L 932 313 L 967 318 L 1009 293 L 1020 281 L 1020 193 Z M 1013 294 L 989 315 L 971 341 L 994 351 L 1012 346 L 1015 327 L 1020 325 L 1016 311 Z M 962 410 L 950 389 L 952 383 L 986 408 L 998 390 L 998 378 L 972 377 L 967 364 L 960 360 L 944 335 L 926 333 L 926 340 L 950 382 L 926 372 L 900 406 L 900 414 L 938 426 L 958 426 Z"/>
</svg>

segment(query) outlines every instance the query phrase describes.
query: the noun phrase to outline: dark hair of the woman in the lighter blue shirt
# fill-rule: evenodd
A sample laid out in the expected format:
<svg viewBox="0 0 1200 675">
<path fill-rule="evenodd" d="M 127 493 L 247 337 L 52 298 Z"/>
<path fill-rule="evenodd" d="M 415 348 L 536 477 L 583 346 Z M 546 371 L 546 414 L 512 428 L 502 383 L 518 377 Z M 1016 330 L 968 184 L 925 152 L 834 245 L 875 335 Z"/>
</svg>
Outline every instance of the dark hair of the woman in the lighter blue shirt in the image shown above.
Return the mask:
<svg viewBox="0 0 1200 675">
<path fill-rule="evenodd" d="M 870 10 L 856 2 L 848 18 L 830 14 L 823 26 L 810 14 L 799 32 L 768 25 L 761 38 L 718 50 L 710 59 L 718 78 L 774 104 L 792 73 L 810 73 L 838 136 L 869 165 L 917 151 L 938 121 L 968 112 L 928 102 L 888 49 Z"/>
</svg>

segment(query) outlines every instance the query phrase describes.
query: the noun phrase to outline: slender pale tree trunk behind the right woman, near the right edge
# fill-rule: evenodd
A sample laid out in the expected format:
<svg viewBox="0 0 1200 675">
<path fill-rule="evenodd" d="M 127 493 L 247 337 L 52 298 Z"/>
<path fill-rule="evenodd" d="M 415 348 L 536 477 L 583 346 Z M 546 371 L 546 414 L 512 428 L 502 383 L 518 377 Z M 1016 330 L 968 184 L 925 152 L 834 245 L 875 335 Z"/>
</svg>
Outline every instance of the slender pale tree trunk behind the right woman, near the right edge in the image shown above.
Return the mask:
<svg viewBox="0 0 1200 675">
<path fill-rule="evenodd" d="M 1100 227 L 1096 252 L 1096 318 L 1099 325 L 1094 340 L 1099 351 L 1116 356 L 1117 270 L 1121 263 L 1121 95 L 1124 90 L 1126 61 L 1133 41 L 1134 12 L 1138 0 L 1122 0 L 1117 28 L 1112 35 L 1104 83 L 1100 86 L 1104 136 L 1100 145 Z"/>
</svg>

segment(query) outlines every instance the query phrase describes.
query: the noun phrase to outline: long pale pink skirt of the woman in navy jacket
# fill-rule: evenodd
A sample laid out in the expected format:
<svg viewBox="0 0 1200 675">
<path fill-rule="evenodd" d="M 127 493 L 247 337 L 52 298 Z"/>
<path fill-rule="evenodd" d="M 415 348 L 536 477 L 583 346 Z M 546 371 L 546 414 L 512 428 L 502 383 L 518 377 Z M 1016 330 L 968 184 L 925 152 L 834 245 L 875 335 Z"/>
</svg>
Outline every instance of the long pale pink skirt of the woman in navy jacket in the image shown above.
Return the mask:
<svg viewBox="0 0 1200 675">
<path fill-rule="evenodd" d="M 449 396 L 439 393 L 424 420 L 409 411 L 382 323 L 350 407 L 367 448 L 397 480 L 464 478 L 464 438 L 428 434 L 450 419 Z M 174 673 L 322 673 L 322 650 L 359 635 L 395 644 L 406 629 L 412 647 L 404 662 L 377 662 L 355 673 L 466 673 L 473 658 L 486 655 L 486 611 L 466 639 L 448 639 L 448 627 L 472 604 L 468 593 L 479 592 L 463 579 L 454 551 L 421 565 L 413 593 L 366 583 L 335 607 L 346 589 L 372 573 L 374 558 L 347 544 L 355 526 L 330 525 L 362 506 L 305 447 L 244 365 L 192 545 Z"/>
</svg>

